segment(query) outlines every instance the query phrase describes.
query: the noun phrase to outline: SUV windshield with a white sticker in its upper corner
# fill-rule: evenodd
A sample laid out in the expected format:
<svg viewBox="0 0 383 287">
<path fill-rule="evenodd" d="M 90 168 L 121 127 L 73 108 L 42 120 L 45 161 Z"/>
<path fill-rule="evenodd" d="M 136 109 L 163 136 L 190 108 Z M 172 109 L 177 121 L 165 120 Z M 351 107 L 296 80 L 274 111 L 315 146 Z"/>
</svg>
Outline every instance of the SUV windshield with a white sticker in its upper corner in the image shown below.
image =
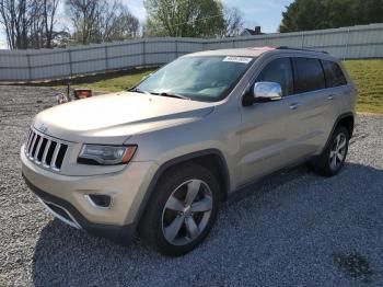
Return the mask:
<svg viewBox="0 0 383 287">
<path fill-rule="evenodd" d="M 249 66 L 247 57 L 183 57 L 143 80 L 137 91 L 213 102 L 225 97 Z"/>
</svg>

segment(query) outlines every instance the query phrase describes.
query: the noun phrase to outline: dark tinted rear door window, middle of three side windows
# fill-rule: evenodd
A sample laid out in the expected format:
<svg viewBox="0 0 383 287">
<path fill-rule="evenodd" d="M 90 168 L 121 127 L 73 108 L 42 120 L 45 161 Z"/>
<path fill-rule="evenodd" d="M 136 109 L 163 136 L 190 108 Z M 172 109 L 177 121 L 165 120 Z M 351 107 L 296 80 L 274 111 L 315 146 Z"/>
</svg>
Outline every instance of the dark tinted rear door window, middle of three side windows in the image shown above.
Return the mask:
<svg viewBox="0 0 383 287">
<path fill-rule="evenodd" d="M 294 58 L 294 67 L 297 93 L 326 88 L 325 76 L 318 59 Z"/>
</svg>

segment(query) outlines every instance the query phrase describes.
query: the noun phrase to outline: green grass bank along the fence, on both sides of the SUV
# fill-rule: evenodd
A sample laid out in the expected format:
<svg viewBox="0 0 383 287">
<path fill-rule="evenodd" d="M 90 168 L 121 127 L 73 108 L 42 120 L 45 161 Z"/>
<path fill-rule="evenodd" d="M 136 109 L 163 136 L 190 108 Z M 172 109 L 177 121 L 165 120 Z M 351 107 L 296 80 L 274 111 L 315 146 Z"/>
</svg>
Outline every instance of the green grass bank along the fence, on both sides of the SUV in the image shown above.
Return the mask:
<svg viewBox="0 0 383 287">
<path fill-rule="evenodd" d="M 358 88 L 357 111 L 383 114 L 383 59 L 347 60 L 345 66 Z M 152 71 L 154 69 L 134 69 L 80 77 L 72 80 L 72 88 L 89 88 L 96 92 L 118 92 L 131 88 Z M 43 83 L 43 85 L 60 89 L 63 88 L 62 84 L 63 82 Z"/>
</svg>

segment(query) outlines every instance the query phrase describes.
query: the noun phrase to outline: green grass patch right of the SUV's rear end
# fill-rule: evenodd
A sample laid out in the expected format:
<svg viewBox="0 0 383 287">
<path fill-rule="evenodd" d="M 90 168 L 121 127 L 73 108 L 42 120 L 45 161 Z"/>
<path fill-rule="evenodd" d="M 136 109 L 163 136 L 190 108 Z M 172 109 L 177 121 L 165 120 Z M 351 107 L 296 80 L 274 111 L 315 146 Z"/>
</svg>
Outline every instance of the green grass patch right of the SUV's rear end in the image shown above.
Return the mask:
<svg viewBox="0 0 383 287">
<path fill-rule="evenodd" d="M 357 111 L 383 114 L 383 59 L 347 60 L 345 67 L 358 88 Z"/>
</svg>

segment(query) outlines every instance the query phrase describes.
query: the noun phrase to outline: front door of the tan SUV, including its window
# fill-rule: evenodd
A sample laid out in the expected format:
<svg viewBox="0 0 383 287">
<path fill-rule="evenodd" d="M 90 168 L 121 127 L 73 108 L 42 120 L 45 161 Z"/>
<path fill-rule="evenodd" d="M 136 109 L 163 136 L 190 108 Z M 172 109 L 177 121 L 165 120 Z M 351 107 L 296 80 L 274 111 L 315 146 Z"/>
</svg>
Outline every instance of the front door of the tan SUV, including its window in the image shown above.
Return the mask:
<svg viewBox="0 0 383 287">
<path fill-rule="evenodd" d="M 260 81 L 280 83 L 283 97 L 242 106 L 239 158 L 242 184 L 286 165 L 294 157 L 290 149 L 298 137 L 293 125 L 295 108 L 287 100 L 293 93 L 290 58 L 278 58 L 268 62 L 255 82 Z"/>
</svg>

